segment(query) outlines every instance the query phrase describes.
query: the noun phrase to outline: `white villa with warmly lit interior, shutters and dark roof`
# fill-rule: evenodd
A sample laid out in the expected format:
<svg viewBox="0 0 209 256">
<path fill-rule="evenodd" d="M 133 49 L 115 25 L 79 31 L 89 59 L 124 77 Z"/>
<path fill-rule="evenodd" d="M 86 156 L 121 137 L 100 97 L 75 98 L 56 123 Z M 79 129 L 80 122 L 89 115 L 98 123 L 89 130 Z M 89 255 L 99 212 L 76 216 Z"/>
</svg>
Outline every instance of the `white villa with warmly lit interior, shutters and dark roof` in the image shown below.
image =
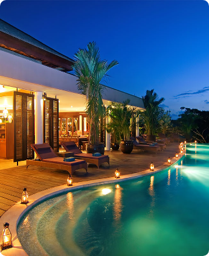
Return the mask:
<svg viewBox="0 0 209 256">
<path fill-rule="evenodd" d="M 79 48 L 79 45 L 78 45 Z M 34 157 L 32 143 L 47 142 L 59 151 L 62 140 L 88 135 L 86 98 L 72 75 L 73 59 L 51 49 L 0 19 L 0 158 L 15 162 Z M 106 86 L 103 103 L 143 109 L 143 100 Z M 108 122 L 108 118 L 103 120 Z M 133 133 L 138 135 L 138 129 Z M 83 136 L 84 137 L 84 136 Z M 110 150 L 110 135 L 101 128 L 100 141 Z"/>
</svg>

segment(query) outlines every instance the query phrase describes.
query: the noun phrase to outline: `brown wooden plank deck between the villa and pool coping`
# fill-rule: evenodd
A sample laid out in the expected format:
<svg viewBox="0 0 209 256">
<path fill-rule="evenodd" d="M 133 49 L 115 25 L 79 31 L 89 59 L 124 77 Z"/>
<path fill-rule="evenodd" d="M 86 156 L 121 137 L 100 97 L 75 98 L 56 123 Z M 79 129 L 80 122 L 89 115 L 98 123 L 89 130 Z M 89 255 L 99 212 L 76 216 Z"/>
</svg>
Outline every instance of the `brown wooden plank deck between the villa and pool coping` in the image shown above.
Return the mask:
<svg viewBox="0 0 209 256">
<path fill-rule="evenodd" d="M 121 175 L 140 172 L 149 169 L 150 162 L 160 166 L 167 162 L 167 158 L 174 157 L 179 152 L 179 144 L 172 143 L 167 149 L 158 153 L 141 152 L 133 150 L 130 155 L 121 153 L 120 150 L 109 151 L 105 154 L 110 157 L 110 167 L 107 163 L 100 169 L 89 164 L 88 173 L 85 169 L 77 170 L 73 175 L 73 182 L 96 180 L 100 178 L 114 177 L 115 169 L 119 169 Z M 65 170 L 48 169 L 29 166 L 26 169 L 25 161 L 13 163 L 13 160 L 0 160 L 0 216 L 13 204 L 21 199 L 23 187 L 27 187 L 29 196 L 51 187 L 66 183 L 68 172 Z"/>
</svg>

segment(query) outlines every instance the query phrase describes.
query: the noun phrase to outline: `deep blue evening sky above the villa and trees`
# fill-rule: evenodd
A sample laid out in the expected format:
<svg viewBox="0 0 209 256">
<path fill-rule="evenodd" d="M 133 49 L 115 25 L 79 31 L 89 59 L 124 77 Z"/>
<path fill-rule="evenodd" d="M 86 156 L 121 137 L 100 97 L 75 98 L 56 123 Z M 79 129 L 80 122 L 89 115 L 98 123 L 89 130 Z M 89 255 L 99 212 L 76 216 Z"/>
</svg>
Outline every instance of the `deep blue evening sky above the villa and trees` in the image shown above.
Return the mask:
<svg viewBox="0 0 209 256">
<path fill-rule="evenodd" d="M 73 58 L 97 42 L 120 63 L 108 86 L 137 96 L 155 89 L 177 118 L 209 108 L 209 1 L 10 1 L 0 18 Z"/>
</svg>

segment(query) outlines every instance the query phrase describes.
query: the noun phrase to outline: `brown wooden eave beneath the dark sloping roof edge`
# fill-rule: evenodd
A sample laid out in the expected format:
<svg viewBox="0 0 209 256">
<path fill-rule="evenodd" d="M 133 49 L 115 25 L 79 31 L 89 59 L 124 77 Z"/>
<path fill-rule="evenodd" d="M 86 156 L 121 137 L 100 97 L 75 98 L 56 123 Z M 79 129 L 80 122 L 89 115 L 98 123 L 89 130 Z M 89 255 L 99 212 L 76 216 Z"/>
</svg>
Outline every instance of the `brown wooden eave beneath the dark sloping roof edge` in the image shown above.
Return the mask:
<svg viewBox="0 0 209 256">
<path fill-rule="evenodd" d="M 72 61 L 40 49 L 35 45 L 28 44 L 28 42 L 24 42 L 4 32 L 0 32 L 0 47 L 41 61 L 43 65 L 53 67 L 54 69 L 61 68 L 65 72 L 72 70 Z"/>
</svg>

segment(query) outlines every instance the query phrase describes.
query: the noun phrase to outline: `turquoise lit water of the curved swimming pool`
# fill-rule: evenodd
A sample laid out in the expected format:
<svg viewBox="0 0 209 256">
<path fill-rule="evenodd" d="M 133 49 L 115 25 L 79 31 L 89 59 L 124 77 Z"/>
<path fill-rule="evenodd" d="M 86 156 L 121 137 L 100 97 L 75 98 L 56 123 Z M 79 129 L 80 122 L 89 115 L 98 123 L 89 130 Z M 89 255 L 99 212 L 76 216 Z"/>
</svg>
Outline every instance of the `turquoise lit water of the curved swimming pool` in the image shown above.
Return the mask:
<svg viewBox="0 0 209 256">
<path fill-rule="evenodd" d="M 188 146 L 178 166 L 155 175 L 43 201 L 18 238 L 30 256 L 206 256 L 209 145 Z"/>
</svg>

